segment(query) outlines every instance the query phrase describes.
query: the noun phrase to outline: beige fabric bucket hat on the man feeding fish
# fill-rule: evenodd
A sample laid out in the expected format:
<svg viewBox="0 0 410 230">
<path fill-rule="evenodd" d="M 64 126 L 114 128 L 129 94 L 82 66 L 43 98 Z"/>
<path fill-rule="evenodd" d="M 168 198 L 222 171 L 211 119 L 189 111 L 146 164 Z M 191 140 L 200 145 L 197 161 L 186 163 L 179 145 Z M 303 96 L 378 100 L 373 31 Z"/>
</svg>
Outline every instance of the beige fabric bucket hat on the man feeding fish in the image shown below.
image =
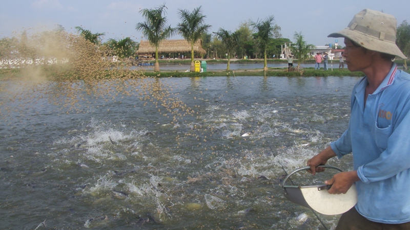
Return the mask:
<svg viewBox="0 0 410 230">
<path fill-rule="evenodd" d="M 396 45 L 396 28 L 397 20 L 393 15 L 364 9 L 353 17 L 347 28 L 327 37 L 346 37 L 367 50 L 405 59 Z"/>
</svg>

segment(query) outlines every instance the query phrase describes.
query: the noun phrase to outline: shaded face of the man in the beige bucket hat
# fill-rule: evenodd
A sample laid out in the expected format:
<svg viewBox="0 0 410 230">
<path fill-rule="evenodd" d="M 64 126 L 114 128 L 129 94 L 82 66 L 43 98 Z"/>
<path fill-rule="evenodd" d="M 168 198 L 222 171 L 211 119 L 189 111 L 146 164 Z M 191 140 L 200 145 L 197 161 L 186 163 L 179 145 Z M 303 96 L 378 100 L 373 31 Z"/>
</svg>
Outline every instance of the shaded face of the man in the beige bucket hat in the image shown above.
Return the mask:
<svg viewBox="0 0 410 230">
<path fill-rule="evenodd" d="M 372 52 L 354 45 L 348 38 L 344 38 L 344 44 L 346 48 L 344 49 L 343 57 L 346 59 L 345 63 L 347 63 L 348 70 L 363 72 L 363 70 L 371 66 Z"/>
</svg>

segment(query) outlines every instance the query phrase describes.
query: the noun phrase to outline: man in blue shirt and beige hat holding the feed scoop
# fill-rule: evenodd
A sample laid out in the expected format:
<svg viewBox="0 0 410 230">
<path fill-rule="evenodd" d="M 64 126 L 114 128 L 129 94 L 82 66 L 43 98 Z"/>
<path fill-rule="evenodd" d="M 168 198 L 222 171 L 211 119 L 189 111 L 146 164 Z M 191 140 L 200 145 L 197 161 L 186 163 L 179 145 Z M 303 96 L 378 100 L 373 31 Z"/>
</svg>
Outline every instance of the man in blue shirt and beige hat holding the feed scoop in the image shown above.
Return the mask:
<svg viewBox="0 0 410 230">
<path fill-rule="evenodd" d="M 330 194 L 346 193 L 356 183 L 358 201 L 336 229 L 410 229 L 410 75 L 394 57 L 406 58 L 396 41 L 396 19 L 365 9 L 346 29 L 343 57 L 350 71 L 365 74 L 353 88 L 347 130 L 308 160 L 310 172 L 337 156 L 353 153 L 353 171 L 335 174 Z"/>
</svg>

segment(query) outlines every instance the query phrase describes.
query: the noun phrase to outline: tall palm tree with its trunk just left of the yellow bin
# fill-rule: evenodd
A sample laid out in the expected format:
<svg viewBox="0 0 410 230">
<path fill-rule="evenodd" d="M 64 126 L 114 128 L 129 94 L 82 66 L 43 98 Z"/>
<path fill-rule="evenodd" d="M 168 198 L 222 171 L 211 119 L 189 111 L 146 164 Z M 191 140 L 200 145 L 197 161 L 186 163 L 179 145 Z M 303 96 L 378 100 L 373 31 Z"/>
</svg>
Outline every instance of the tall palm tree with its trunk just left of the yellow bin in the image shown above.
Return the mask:
<svg viewBox="0 0 410 230">
<path fill-rule="evenodd" d="M 207 17 L 202 14 L 201 7 L 195 8 L 192 12 L 178 9 L 181 22 L 177 25 L 178 33 L 191 43 L 191 71 L 195 71 L 194 66 L 194 44 L 203 34 L 208 32 L 210 25 L 204 24 Z"/>
</svg>

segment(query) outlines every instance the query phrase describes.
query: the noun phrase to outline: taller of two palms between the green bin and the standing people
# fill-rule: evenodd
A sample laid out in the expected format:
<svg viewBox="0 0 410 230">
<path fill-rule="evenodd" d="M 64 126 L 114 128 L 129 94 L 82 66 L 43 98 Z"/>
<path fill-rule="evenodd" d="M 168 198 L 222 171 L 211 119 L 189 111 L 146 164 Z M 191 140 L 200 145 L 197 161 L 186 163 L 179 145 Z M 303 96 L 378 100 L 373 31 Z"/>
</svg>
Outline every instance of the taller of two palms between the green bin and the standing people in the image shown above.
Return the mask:
<svg viewBox="0 0 410 230">
<path fill-rule="evenodd" d="M 268 49 L 268 42 L 274 36 L 275 27 L 273 22 L 275 21 L 275 17 L 273 15 L 266 17 L 264 20 L 259 19 L 254 22 L 250 20 L 250 25 L 255 32 L 256 42 L 261 51 L 263 51 L 263 68 L 266 70 L 268 63 L 267 63 L 267 49 Z"/>
</svg>

